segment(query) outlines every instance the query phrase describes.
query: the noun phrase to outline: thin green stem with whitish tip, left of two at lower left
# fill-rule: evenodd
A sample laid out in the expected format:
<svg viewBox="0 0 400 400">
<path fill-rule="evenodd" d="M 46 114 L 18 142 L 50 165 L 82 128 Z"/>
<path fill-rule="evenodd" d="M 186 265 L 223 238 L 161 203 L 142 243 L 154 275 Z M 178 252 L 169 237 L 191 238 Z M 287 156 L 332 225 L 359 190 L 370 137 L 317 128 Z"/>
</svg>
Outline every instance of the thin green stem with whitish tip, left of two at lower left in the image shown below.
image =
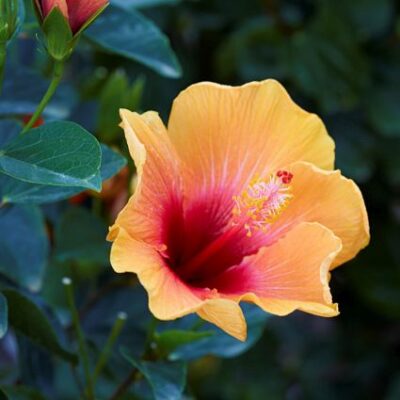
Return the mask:
<svg viewBox="0 0 400 400">
<path fill-rule="evenodd" d="M 82 327 L 79 322 L 79 315 L 78 315 L 78 310 L 77 310 L 76 304 L 75 304 L 72 280 L 70 278 L 65 277 L 65 278 L 63 278 L 62 283 L 64 285 L 65 292 L 67 295 L 68 306 L 70 308 L 71 316 L 72 316 L 72 322 L 74 324 L 76 335 L 78 337 L 79 355 L 82 357 L 83 370 L 84 370 L 85 379 L 86 379 L 85 396 L 89 400 L 95 400 L 92 377 L 90 375 L 89 353 L 88 353 L 87 347 L 86 347 L 85 336 L 83 334 Z"/>
</svg>

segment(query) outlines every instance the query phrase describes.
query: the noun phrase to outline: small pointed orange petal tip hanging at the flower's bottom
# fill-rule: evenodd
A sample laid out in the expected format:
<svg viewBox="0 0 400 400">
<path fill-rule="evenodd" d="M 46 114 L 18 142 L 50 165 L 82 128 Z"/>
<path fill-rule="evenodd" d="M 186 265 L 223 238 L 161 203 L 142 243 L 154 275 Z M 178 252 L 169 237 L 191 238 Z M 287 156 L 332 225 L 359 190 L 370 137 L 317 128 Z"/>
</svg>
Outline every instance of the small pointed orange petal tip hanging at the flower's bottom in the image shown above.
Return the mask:
<svg viewBox="0 0 400 400">
<path fill-rule="evenodd" d="M 211 299 L 197 311 L 197 314 L 236 339 L 246 340 L 246 320 L 237 302 L 229 299 Z"/>
</svg>

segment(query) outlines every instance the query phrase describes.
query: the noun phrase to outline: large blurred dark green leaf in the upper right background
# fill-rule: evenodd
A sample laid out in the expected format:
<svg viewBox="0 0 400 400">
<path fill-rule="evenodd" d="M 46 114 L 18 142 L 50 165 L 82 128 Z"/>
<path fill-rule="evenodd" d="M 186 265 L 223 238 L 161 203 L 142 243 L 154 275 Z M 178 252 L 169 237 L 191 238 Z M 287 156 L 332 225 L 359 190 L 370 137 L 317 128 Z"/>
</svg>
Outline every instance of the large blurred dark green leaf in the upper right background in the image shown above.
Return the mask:
<svg viewBox="0 0 400 400">
<path fill-rule="evenodd" d="M 287 68 L 300 92 L 324 112 L 352 110 L 370 84 L 368 59 L 334 2 L 321 4 L 312 24 L 290 37 Z"/>
</svg>

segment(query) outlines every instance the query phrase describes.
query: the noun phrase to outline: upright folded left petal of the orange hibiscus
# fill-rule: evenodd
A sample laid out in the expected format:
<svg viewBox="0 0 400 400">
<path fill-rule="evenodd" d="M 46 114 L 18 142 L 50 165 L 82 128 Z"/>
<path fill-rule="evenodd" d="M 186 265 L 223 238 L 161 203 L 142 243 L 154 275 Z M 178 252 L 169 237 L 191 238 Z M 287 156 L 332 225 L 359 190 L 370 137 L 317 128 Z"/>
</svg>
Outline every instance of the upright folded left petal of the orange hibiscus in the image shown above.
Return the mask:
<svg viewBox="0 0 400 400">
<path fill-rule="evenodd" d="M 135 194 L 115 226 L 122 226 L 132 238 L 162 249 L 164 236 L 168 236 L 164 229 L 170 226 L 170 218 L 182 215 L 178 157 L 156 113 L 139 115 L 121 110 L 121 117 L 138 180 Z M 114 237 L 113 229 L 110 240 Z"/>
</svg>

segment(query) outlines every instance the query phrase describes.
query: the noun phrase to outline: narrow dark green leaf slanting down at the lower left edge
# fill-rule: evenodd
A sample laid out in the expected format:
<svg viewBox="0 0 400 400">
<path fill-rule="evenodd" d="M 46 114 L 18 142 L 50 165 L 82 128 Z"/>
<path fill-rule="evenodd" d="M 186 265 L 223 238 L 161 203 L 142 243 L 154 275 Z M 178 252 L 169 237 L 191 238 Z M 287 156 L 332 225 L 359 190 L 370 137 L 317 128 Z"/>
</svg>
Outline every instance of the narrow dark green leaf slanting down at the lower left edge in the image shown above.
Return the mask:
<svg viewBox="0 0 400 400">
<path fill-rule="evenodd" d="M 14 289 L 4 289 L 3 294 L 8 302 L 9 323 L 17 332 L 68 362 L 78 362 L 75 354 L 63 348 L 46 314 L 33 301 Z"/>
</svg>

